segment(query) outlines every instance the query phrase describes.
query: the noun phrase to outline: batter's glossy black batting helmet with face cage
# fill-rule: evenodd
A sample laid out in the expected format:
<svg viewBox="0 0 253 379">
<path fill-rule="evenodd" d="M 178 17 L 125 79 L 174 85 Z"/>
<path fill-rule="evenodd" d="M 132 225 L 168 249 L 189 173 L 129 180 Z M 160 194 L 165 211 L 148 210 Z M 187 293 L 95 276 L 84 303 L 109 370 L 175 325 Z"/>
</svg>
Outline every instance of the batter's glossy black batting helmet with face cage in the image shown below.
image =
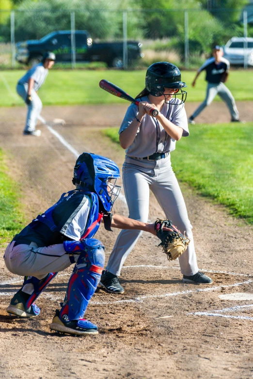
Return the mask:
<svg viewBox="0 0 253 379">
<path fill-rule="evenodd" d="M 153 96 L 164 95 L 165 88 L 175 88 L 178 91 L 173 96 L 182 95 L 181 103 L 186 100 L 187 92 L 182 90 L 180 93 L 178 92 L 181 88 L 187 87 L 187 85 L 181 81 L 180 70 L 173 63 L 158 62 L 151 64 L 147 69 L 145 85 Z"/>
</svg>

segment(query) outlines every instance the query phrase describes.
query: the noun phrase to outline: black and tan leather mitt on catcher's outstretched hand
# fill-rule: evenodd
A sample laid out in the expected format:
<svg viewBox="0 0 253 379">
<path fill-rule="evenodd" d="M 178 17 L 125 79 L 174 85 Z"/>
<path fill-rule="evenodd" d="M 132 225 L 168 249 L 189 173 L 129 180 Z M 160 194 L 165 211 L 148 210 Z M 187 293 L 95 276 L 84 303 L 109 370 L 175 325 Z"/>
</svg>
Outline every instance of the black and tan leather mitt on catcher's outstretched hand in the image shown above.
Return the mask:
<svg viewBox="0 0 253 379">
<path fill-rule="evenodd" d="M 163 230 L 163 228 L 169 230 Z M 180 233 L 170 220 L 157 220 L 155 222 L 155 231 L 157 237 L 161 240 L 158 246 L 163 247 L 163 253 L 167 254 L 169 261 L 173 261 L 183 254 L 189 243 L 190 239 Z"/>
</svg>

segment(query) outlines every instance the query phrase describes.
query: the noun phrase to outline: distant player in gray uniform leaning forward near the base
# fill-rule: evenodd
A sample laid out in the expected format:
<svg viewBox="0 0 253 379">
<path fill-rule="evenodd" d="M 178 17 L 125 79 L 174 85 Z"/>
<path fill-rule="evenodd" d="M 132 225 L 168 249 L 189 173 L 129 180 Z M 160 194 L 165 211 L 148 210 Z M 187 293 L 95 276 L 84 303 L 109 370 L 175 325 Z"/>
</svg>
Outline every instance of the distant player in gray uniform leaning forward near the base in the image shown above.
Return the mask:
<svg viewBox="0 0 253 379">
<path fill-rule="evenodd" d="M 48 70 L 53 67 L 54 62 L 55 54 L 52 52 L 45 53 L 42 62 L 33 66 L 17 82 L 16 92 L 22 97 L 28 107 L 24 135 L 37 137 L 41 135 L 40 130 L 35 130 L 38 117 L 42 110 L 42 102 L 37 92 L 45 82 Z"/>
</svg>

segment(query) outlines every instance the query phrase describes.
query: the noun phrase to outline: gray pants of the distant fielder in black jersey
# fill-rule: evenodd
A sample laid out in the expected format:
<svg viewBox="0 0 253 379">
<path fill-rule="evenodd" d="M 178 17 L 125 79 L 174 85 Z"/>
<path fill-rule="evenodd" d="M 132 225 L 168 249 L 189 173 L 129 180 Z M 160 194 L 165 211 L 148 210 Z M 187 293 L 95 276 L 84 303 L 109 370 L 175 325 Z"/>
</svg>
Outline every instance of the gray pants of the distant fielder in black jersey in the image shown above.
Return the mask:
<svg viewBox="0 0 253 379">
<path fill-rule="evenodd" d="M 229 112 L 231 114 L 231 118 L 233 120 L 239 119 L 239 112 L 237 110 L 236 102 L 229 91 L 229 89 L 225 86 L 224 83 L 208 83 L 206 88 L 206 98 L 203 101 L 202 104 L 196 109 L 194 113 L 192 113 L 191 117 L 195 118 L 197 117 L 205 108 L 207 105 L 210 105 L 213 99 L 216 95 L 219 95 L 221 99 L 226 103 Z"/>
</svg>

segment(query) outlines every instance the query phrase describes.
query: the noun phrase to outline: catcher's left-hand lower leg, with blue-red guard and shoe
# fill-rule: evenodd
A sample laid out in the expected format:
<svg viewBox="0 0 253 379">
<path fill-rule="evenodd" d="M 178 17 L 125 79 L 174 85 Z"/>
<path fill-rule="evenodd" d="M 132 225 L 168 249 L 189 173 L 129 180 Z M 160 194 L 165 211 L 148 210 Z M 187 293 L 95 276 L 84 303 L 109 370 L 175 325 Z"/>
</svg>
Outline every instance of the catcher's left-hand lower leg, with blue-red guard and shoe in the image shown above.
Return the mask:
<svg viewBox="0 0 253 379">
<path fill-rule="evenodd" d="M 22 318 L 36 317 L 40 314 L 39 307 L 34 303 L 41 292 L 47 287 L 51 280 L 55 277 L 57 272 L 50 272 L 43 279 L 35 278 L 35 276 L 25 276 L 22 288 L 14 295 L 10 305 L 7 308 L 7 312 L 11 315 L 15 315 Z M 22 289 L 26 284 L 33 285 L 32 294 L 23 292 Z"/>
</svg>

